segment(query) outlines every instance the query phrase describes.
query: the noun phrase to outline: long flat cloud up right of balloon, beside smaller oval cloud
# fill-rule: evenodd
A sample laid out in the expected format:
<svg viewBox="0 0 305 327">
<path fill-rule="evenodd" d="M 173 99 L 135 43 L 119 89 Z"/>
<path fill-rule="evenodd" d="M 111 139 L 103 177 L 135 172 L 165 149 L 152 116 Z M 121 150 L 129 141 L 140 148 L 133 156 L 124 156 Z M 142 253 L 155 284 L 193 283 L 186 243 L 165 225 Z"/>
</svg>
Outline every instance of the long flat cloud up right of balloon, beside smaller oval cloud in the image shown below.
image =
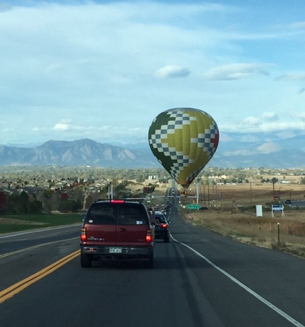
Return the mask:
<svg viewBox="0 0 305 327">
<path fill-rule="evenodd" d="M 268 76 L 266 64 L 259 63 L 233 63 L 211 68 L 204 77 L 209 80 L 238 80 L 253 74 Z"/>
</svg>

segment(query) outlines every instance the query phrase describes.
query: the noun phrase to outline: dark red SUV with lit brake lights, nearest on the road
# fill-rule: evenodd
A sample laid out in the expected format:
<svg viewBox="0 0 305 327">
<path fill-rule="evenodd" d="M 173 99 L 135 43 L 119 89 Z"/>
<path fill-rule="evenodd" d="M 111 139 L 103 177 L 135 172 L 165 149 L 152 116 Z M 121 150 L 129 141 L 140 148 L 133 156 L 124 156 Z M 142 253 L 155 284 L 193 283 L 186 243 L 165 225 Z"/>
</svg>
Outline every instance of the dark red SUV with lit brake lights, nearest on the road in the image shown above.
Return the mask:
<svg viewBox="0 0 305 327">
<path fill-rule="evenodd" d="M 155 232 L 144 204 L 124 200 L 91 203 L 81 231 L 81 266 L 102 259 L 142 259 L 154 266 Z"/>
</svg>

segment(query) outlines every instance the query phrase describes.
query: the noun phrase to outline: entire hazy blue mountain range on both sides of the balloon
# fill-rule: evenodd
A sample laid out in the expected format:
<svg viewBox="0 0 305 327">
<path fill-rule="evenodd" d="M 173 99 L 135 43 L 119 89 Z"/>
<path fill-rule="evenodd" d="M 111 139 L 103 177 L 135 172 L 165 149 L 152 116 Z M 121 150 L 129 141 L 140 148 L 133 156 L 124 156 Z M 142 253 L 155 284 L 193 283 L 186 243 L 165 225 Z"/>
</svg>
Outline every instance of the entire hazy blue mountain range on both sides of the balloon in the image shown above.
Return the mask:
<svg viewBox="0 0 305 327">
<path fill-rule="evenodd" d="M 92 139 L 47 141 L 36 147 L 1 145 L 0 166 L 60 165 L 113 168 L 161 167 L 148 141 L 105 144 Z M 281 139 L 266 133 L 220 133 L 208 164 L 218 168 L 305 168 L 305 135 Z"/>
</svg>

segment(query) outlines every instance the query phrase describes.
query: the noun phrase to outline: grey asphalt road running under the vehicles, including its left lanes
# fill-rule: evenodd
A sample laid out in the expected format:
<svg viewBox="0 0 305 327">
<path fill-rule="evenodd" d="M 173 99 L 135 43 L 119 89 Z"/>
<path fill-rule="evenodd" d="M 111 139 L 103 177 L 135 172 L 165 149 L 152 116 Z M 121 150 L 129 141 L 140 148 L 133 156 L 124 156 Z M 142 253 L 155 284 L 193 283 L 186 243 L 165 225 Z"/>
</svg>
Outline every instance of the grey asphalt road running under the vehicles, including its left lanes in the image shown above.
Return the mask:
<svg viewBox="0 0 305 327">
<path fill-rule="evenodd" d="M 0 255 L 1 326 L 305 326 L 305 260 L 185 223 L 175 207 L 169 217 L 175 241 L 157 241 L 154 269 L 138 262 L 81 268 L 75 226 L 56 239 L 39 241 L 38 232 L 0 239 L 1 249 L 15 251 Z M 24 247 L 34 248 L 20 252 L 24 238 Z M 48 242 L 38 246 L 42 240 Z M 5 297 L 12 285 L 73 252 Z"/>
</svg>

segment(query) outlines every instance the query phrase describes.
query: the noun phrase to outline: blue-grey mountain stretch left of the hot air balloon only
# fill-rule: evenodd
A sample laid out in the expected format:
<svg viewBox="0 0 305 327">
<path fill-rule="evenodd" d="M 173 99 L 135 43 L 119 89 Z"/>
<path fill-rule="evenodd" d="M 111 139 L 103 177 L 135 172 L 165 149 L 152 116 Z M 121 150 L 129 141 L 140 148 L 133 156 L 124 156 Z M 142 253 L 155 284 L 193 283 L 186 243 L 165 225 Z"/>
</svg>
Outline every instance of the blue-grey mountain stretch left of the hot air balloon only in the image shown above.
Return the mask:
<svg viewBox="0 0 305 327">
<path fill-rule="evenodd" d="M 35 148 L 0 146 L 0 165 L 61 165 L 113 168 L 160 167 L 150 149 L 137 150 L 79 139 L 47 141 Z"/>
</svg>

